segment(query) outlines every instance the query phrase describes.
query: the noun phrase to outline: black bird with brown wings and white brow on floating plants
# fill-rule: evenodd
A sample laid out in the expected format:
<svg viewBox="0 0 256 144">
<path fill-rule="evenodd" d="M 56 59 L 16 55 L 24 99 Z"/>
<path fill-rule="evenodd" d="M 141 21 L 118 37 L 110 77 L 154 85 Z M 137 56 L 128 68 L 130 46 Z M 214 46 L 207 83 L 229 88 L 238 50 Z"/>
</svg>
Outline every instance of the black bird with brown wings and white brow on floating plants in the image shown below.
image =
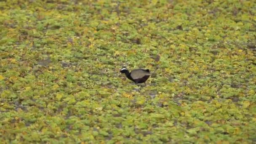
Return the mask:
<svg viewBox="0 0 256 144">
<path fill-rule="evenodd" d="M 149 69 L 133 69 L 131 72 L 128 71 L 125 67 L 120 70 L 121 73 L 125 73 L 126 77 L 129 80 L 132 80 L 134 83 L 145 83 L 146 80 L 150 77 Z M 146 86 L 146 83 L 145 83 Z"/>
</svg>

